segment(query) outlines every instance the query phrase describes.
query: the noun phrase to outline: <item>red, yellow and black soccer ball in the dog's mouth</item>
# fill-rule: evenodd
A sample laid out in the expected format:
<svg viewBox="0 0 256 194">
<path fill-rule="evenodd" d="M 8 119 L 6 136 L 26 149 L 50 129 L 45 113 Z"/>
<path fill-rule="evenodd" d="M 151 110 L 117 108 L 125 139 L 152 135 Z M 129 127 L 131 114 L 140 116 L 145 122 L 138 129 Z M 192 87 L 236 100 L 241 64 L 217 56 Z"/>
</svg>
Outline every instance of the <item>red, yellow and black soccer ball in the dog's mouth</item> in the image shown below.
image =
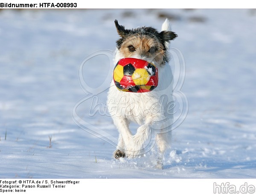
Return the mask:
<svg viewBox="0 0 256 194">
<path fill-rule="evenodd" d="M 116 63 L 113 80 L 120 91 L 148 92 L 158 85 L 158 70 L 145 60 L 123 58 Z"/>
</svg>

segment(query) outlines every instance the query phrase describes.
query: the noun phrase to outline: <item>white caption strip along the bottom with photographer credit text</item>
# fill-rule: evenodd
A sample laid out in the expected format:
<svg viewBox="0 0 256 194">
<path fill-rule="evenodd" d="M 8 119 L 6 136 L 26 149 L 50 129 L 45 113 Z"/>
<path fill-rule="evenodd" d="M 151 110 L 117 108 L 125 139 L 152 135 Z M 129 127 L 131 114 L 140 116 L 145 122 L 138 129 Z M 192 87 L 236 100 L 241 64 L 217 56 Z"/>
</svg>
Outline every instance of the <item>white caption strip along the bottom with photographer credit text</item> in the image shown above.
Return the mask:
<svg viewBox="0 0 256 194">
<path fill-rule="evenodd" d="M 3 181 L 3 180 L 1 180 Z M 254 194 L 256 179 L 6 179 L 25 189 L 26 194 Z M 33 182 L 32 182 L 33 181 Z M 40 181 L 41 183 L 37 183 Z M 51 184 L 51 181 L 54 183 Z M 76 181 L 76 184 L 56 183 L 56 181 Z M 25 182 L 25 183 L 24 183 Z M 43 182 L 43 183 L 42 183 Z M 2 182 L 3 183 L 3 182 Z M 2 184 L 1 183 L 1 184 Z M 53 188 L 53 184 L 62 188 Z M 22 185 L 35 185 L 36 188 L 22 188 Z M 51 185 L 50 188 L 37 188 L 37 185 Z M 49 187 L 49 186 L 48 186 Z M 236 189 L 234 192 L 234 188 Z M 9 189 L 9 188 L 2 188 Z M 12 188 L 15 190 L 15 188 Z M 6 193 L 16 193 L 6 192 Z M 23 192 L 24 193 L 24 192 Z"/>
</svg>

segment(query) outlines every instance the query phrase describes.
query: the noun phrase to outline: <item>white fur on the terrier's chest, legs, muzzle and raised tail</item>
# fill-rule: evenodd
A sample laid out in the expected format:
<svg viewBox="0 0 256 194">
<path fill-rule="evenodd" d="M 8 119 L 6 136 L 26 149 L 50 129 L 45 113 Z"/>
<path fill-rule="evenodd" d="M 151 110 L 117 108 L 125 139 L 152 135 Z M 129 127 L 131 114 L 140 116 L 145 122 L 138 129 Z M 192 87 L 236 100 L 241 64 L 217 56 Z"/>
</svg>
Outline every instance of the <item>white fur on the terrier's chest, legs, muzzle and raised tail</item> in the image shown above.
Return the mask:
<svg viewBox="0 0 256 194">
<path fill-rule="evenodd" d="M 169 21 L 163 23 L 162 30 L 169 30 Z M 132 56 L 141 58 L 140 56 Z M 114 64 L 124 58 L 117 50 Z M 136 157 L 142 153 L 143 144 L 151 136 L 157 133 L 157 146 L 160 153 L 163 153 L 170 143 L 170 127 L 172 114 L 166 117 L 166 106 L 163 105 L 161 97 L 166 95 L 168 102 L 172 101 L 172 71 L 168 64 L 158 66 L 158 86 L 150 92 L 133 93 L 119 91 L 113 80 L 108 92 L 108 111 L 111 114 L 114 125 L 119 131 L 119 142 L 117 149 L 124 151 L 128 158 Z M 130 122 L 140 125 L 137 133 L 132 135 L 129 129 Z M 169 131 L 169 132 L 168 132 Z"/>
</svg>

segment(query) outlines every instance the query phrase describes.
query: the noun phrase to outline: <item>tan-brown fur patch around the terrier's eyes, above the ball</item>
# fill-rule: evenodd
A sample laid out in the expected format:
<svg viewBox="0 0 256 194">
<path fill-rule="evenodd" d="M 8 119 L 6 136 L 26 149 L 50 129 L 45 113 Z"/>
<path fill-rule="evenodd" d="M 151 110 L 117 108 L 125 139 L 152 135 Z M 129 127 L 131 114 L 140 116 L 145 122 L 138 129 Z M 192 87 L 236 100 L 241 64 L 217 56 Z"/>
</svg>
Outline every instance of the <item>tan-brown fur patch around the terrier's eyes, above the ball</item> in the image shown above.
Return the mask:
<svg viewBox="0 0 256 194">
<path fill-rule="evenodd" d="M 133 46 L 135 50 L 132 51 L 133 49 L 131 50 L 129 48 L 130 46 Z M 145 34 L 133 34 L 125 39 L 119 48 L 119 51 L 124 57 L 146 57 L 159 65 L 163 65 L 163 57 L 165 54 L 163 48 L 163 45 L 157 38 Z"/>
</svg>

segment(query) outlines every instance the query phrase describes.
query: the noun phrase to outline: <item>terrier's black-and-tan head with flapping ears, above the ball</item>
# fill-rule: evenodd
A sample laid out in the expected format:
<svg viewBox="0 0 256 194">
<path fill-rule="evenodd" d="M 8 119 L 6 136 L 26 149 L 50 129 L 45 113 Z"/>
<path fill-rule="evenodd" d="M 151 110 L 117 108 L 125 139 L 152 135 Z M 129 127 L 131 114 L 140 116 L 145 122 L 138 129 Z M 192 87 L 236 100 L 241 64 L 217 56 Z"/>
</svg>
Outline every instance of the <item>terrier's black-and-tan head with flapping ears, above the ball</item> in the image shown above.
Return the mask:
<svg viewBox="0 0 256 194">
<path fill-rule="evenodd" d="M 172 31 L 158 32 L 152 27 L 125 29 L 115 20 L 116 30 L 121 37 L 116 41 L 119 57 L 133 57 L 163 66 L 167 61 L 166 43 L 177 37 Z"/>
</svg>

